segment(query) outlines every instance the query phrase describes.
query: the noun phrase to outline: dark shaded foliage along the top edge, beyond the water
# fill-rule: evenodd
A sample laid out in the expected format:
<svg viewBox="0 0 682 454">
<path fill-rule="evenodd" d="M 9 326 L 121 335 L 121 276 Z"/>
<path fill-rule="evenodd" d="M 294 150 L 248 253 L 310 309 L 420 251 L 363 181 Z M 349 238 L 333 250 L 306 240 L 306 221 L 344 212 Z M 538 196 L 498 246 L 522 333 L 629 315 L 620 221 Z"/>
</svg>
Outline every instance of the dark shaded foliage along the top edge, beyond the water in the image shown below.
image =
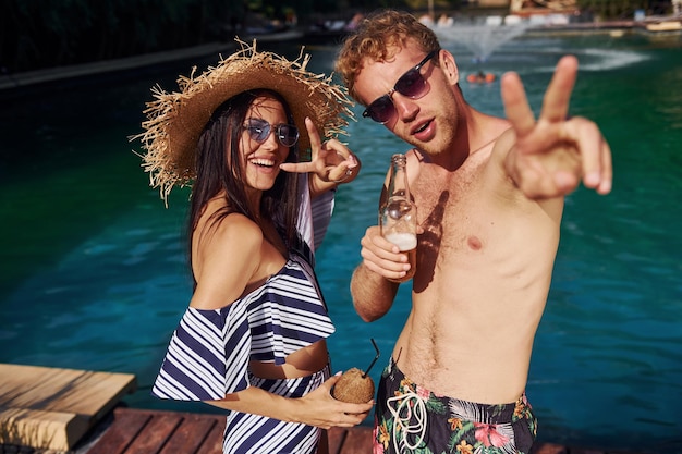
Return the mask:
<svg viewBox="0 0 682 454">
<path fill-rule="evenodd" d="M 293 14 L 296 26 L 377 8 L 476 13 L 479 0 L 0 0 L 0 70 L 17 73 L 229 40 Z M 528 0 L 541 8 L 549 0 Z M 670 10 L 670 0 L 576 0 L 589 19 Z M 430 4 L 429 4 L 430 3 Z M 291 21 L 290 21 L 291 22 Z"/>
</svg>

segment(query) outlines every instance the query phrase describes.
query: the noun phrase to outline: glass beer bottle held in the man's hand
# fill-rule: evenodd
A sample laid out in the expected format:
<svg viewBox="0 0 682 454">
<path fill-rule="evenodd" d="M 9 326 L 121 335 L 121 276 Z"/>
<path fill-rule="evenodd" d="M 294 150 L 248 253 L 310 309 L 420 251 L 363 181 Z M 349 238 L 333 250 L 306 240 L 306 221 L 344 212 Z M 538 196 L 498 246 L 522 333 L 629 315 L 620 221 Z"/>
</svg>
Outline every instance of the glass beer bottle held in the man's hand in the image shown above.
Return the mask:
<svg viewBox="0 0 682 454">
<path fill-rule="evenodd" d="M 393 243 L 401 253 L 407 254 L 410 270 L 402 279 L 404 282 L 414 277 L 417 253 L 417 207 L 410 197 L 405 155 L 391 157 L 391 174 L 385 203 L 379 208 L 379 229 L 381 235 Z"/>
</svg>

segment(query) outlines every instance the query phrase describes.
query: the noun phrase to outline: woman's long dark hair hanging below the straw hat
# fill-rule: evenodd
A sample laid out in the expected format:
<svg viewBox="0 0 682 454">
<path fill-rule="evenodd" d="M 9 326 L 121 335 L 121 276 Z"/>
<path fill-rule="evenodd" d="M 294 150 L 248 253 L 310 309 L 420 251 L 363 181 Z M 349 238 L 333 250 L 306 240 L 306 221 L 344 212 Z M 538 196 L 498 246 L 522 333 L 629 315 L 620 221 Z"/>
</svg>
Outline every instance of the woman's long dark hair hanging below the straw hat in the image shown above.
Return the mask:
<svg viewBox="0 0 682 454">
<path fill-rule="evenodd" d="M 196 154 L 196 179 L 192 185 L 188 222 L 190 266 L 192 266 L 192 235 L 204 207 L 218 193 L 224 191 L 227 206 L 211 216 L 207 228 L 217 225 L 224 217 L 238 212 L 261 225 L 260 219 L 275 221 L 288 248 L 299 246 L 296 221 L 299 218 L 299 174 L 281 171 L 272 187 L 264 192 L 260 207 L 251 207 L 246 197 L 244 157 L 239 148 L 243 124 L 248 109 L 259 97 L 271 97 L 283 107 L 288 122 L 293 115 L 284 98 L 269 89 L 243 91 L 216 109 L 204 127 Z M 291 147 L 287 162 L 297 162 L 297 145 Z M 258 212 L 254 212 L 258 209 Z M 195 283 L 196 284 L 196 283 Z"/>
</svg>

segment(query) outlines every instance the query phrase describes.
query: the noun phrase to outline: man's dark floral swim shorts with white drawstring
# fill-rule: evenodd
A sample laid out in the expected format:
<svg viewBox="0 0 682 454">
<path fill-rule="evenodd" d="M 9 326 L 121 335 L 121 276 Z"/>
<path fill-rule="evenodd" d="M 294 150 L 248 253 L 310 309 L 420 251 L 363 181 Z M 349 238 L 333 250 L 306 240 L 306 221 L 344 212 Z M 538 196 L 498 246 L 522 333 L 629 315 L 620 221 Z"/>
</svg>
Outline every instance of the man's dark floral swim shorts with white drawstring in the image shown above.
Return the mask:
<svg viewBox="0 0 682 454">
<path fill-rule="evenodd" d="M 515 403 L 477 404 L 437 396 L 392 358 L 381 373 L 374 454 L 528 454 L 536 430 L 525 393 Z"/>
</svg>

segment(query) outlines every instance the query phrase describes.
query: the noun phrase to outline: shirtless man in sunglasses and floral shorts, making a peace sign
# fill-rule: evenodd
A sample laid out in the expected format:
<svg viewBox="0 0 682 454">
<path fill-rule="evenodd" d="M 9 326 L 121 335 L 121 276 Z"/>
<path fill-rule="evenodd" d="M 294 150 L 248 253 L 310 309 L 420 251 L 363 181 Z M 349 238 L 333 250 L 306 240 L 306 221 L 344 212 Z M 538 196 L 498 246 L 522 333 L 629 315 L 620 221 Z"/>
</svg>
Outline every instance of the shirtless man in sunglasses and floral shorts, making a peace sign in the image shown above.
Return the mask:
<svg viewBox="0 0 682 454">
<path fill-rule="evenodd" d="M 536 420 L 524 390 L 563 198 L 581 180 L 599 194 L 611 189 L 598 127 L 568 119 L 575 58 L 557 64 L 537 120 L 514 73 L 500 82 L 507 119 L 468 106 L 454 57 L 407 13 L 368 16 L 336 70 L 367 107 L 364 116 L 414 146 L 407 174 L 421 234 L 412 310 L 379 383 L 375 452 L 528 453 Z M 361 254 L 351 292 L 373 321 L 391 308 L 391 280 L 410 265 L 377 226 Z"/>
</svg>

